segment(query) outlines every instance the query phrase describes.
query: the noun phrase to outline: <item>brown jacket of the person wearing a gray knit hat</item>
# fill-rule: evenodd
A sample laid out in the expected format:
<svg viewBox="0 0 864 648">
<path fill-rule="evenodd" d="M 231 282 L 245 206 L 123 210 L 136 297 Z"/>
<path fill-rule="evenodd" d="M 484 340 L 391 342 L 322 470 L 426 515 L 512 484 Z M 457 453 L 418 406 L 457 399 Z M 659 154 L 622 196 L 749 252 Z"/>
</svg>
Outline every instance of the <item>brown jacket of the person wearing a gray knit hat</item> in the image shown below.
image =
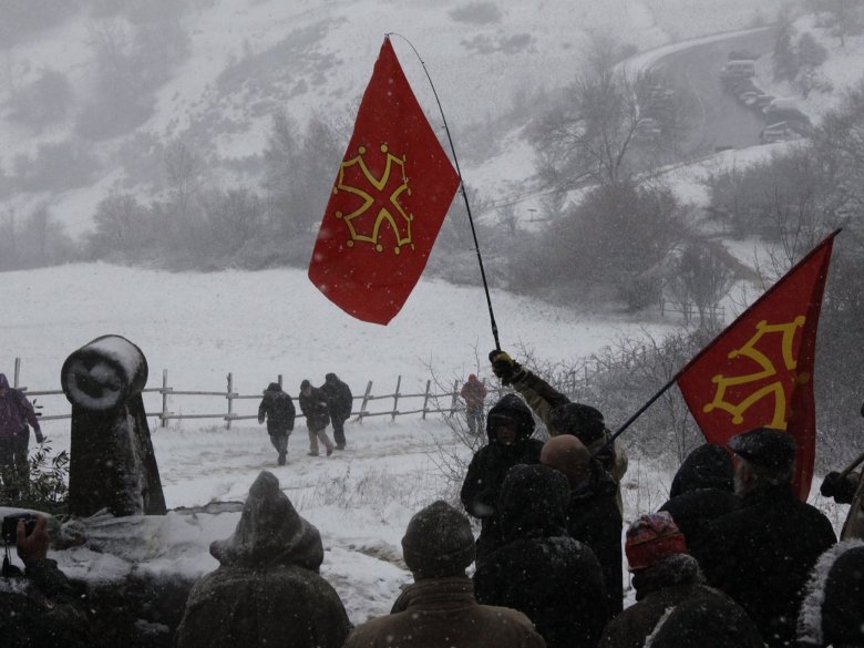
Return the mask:
<svg viewBox="0 0 864 648">
<path fill-rule="evenodd" d="M 409 586 L 389 616 L 353 629 L 344 648 L 542 648 L 528 618 L 505 607 L 479 605 L 464 576 Z"/>
</svg>

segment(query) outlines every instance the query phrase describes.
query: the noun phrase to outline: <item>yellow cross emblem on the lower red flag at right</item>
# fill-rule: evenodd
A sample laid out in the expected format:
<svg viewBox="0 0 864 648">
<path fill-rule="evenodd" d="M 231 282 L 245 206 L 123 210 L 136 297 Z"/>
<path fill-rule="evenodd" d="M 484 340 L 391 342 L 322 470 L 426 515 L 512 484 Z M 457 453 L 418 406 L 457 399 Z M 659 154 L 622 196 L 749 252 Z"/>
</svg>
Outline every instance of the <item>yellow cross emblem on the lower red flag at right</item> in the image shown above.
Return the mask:
<svg viewBox="0 0 864 648">
<path fill-rule="evenodd" d="M 786 371 L 793 371 L 798 367 L 798 359 L 793 354 L 792 342 L 795 337 L 795 331 L 804 326 L 804 321 L 806 321 L 806 318 L 804 316 L 799 316 L 789 323 L 769 325 L 765 320 L 760 321 L 755 327 L 757 328 L 755 335 L 753 335 L 753 337 L 750 338 L 747 341 L 747 343 L 744 343 L 744 346 L 741 347 L 740 349 L 733 349 L 732 351 L 730 351 L 728 358 L 730 360 L 734 360 L 741 357 L 750 358 L 761 369 L 759 371 L 755 371 L 753 373 L 748 373 L 745 376 L 734 376 L 730 378 L 724 377 L 722 374 L 714 376 L 711 379 L 711 381 L 714 384 L 717 384 L 717 390 L 714 391 L 714 399 L 710 403 L 704 405 L 702 411 L 708 413 L 716 409 L 724 410 L 730 414 L 732 414 L 732 423 L 738 425 L 743 423 L 744 413 L 751 405 L 762 400 L 763 398 L 768 398 L 773 394 L 774 414 L 769 425 L 778 430 L 785 430 L 786 429 L 786 393 L 785 390 L 783 389 L 783 383 L 780 380 L 775 380 L 753 391 L 753 393 L 751 393 L 749 397 L 747 397 L 739 403 L 730 403 L 723 399 L 726 398 L 727 389 L 731 387 L 759 382 L 778 376 L 779 373 L 778 369 L 776 367 L 774 367 L 774 363 L 771 361 L 771 359 L 768 358 L 764 353 L 762 353 L 762 351 L 760 351 L 757 348 L 757 344 L 759 344 L 759 342 L 762 340 L 764 336 L 768 335 L 781 336 L 780 342 L 781 342 L 781 354 L 783 359 L 783 367 L 785 368 Z M 801 382 L 801 379 L 809 380 L 810 377 L 809 376 L 796 377 L 798 382 Z"/>
</svg>

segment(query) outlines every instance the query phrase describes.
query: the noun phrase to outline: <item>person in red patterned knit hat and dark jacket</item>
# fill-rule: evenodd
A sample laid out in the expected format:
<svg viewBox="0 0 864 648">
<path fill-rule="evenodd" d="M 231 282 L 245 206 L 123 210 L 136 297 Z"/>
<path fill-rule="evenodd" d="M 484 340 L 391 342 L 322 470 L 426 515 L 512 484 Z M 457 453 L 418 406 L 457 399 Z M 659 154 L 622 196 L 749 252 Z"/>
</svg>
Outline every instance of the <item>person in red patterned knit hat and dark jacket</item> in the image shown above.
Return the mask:
<svg viewBox="0 0 864 648">
<path fill-rule="evenodd" d="M 668 513 L 651 513 L 636 520 L 627 529 L 627 562 L 632 573 L 636 604 L 615 617 L 603 632 L 600 648 L 642 648 L 665 621 L 669 611 L 682 614 L 667 629 L 678 642 L 667 646 L 716 646 L 717 648 L 762 648 L 762 639 L 747 613 L 729 596 L 708 587 L 696 559 L 687 554 L 683 534 Z M 687 611 L 685 611 L 687 610 Z M 711 610 L 713 635 L 687 639 L 687 629 Z M 697 630 L 702 629 L 697 626 Z M 712 642 L 713 641 L 713 642 Z M 654 645 L 654 644 L 651 644 Z"/>
</svg>

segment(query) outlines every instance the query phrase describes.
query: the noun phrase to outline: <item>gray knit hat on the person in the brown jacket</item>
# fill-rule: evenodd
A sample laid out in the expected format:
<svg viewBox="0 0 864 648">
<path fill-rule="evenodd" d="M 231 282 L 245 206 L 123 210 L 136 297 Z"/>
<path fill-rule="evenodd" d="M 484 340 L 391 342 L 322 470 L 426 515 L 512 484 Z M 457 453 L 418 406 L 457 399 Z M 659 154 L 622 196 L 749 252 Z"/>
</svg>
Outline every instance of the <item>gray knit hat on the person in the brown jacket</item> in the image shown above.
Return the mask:
<svg viewBox="0 0 864 648">
<path fill-rule="evenodd" d="M 474 560 L 474 535 L 467 518 L 439 500 L 408 523 L 402 555 L 415 578 L 457 576 Z"/>
</svg>

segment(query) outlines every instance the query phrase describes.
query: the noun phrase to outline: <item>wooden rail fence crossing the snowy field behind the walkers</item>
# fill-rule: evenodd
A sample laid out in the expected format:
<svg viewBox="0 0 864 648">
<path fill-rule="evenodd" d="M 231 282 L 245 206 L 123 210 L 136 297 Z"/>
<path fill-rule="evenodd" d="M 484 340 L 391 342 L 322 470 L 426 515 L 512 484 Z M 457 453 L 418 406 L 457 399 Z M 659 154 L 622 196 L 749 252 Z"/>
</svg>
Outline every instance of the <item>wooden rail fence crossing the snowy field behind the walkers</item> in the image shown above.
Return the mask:
<svg viewBox="0 0 864 648">
<path fill-rule="evenodd" d="M 40 397 L 40 395 L 49 395 L 49 397 L 63 395 L 62 390 L 31 389 L 30 387 L 21 385 L 20 374 L 21 374 L 21 359 L 16 358 L 12 387 L 24 391 L 28 398 Z M 279 385 L 282 384 L 281 374 L 279 374 L 278 377 L 278 382 Z M 405 416 L 409 414 L 421 414 L 422 419 L 425 419 L 428 414 L 446 414 L 452 416 L 457 411 L 464 409 L 464 405 L 461 403 L 459 398 L 460 395 L 459 391 L 461 387 L 459 380 L 454 380 L 452 391 L 442 391 L 442 392 L 433 391 L 432 381 L 426 380 L 425 390 L 423 392 L 402 393 L 401 376 L 397 378 L 395 389 L 393 390 L 392 393 L 373 394 L 372 387 L 373 384 L 372 381 L 370 380 L 367 382 L 366 391 L 363 392 L 363 395 L 353 397 L 354 404 L 357 404 L 359 401 L 360 407 L 358 409 L 352 409 L 351 416 L 361 423 L 363 419 L 368 416 L 390 416 L 391 420 L 393 421 L 395 421 L 397 416 Z M 488 390 L 492 393 L 495 392 L 503 393 L 503 390 L 500 387 L 492 387 L 488 388 Z M 228 376 L 226 377 L 225 391 L 197 391 L 197 390 L 177 389 L 175 387 L 169 385 L 167 369 L 162 370 L 162 387 L 146 388 L 143 390 L 143 393 L 145 394 L 157 393 L 161 395 L 162 399 L 161 409 L 158 411 L 147 411 L 146 415 L 158 419 L 160 425 L 162 428 L 166 428 L 168 425 L 168 422 L 173 420 L 220 419 L 225 421 L 225 426 L 229 429 L 232 426 L 232 422 L 234 421 L 244 421 L 244 420 L 258 418 L 257 407 L 254 407 L 254 413 L 239 413 L 238 411 L 236 411 L 235 401 L 244 401 L 244 400 L 260 401 L 263 398 L 261 393 L 241 394 L 234 391 L 233 373 L 228 373 Z M 181 397 L 205 397 L 205 398 L 224 399 L 226 401 L 226 408 L 225 408 L 226 411 L 203 413 L 203 414 L 178 414 L 172 411 L 172 405 L 174 404 L 173 399 L 181 398 Z M 377 401 L 381 401 L 382 403 L 385 403 L 384 409 L 373 407 L 372 403 L 376 403 Z M 64 409 L 66 409 L 68 412 L 62 414 L 40 413 L 39 414 L 40 419 L 42 421 L 71 419 L 72 418 L 71 405 L 68 402 L 65 402 L 65 400 L 63 402 L 64 402 Z M 390 404 L 390 402 L 392 402 L 392 404 Z M 421 402 L 422 405 L 420 404 Z M 441 403 L 446 403 L 446 407 L 441 407 Z M 407 407 L 408 409 L 400 410 L 400 405 L 403 408 Z M 298 419 L 305 418 L 304 414 L 299 411 L 299 408 L 297 408 L 297 418 Z"/>
</svg>

